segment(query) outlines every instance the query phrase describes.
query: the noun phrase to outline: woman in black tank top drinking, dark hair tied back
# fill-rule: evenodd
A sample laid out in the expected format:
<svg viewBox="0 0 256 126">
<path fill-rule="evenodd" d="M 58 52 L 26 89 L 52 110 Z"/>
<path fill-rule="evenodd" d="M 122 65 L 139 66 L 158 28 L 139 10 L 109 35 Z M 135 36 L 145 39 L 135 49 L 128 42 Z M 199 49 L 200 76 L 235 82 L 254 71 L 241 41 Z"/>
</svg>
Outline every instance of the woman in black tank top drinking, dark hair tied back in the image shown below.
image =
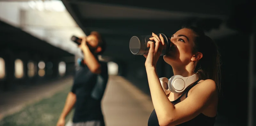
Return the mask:
<svg viewBox="0 0 256 126">
<path fill-rule="evenodd" d="M 182 28 L 171 37 L 172 50 L 164 61 L 172 66 L 174 75 L 199 76 L 183 93 L 163 91 L 156 73 L 156 62 L 163 50 L 164 38 L 152 33 L 145 67 L 154 110 L 148 126 L 213 126 L 217 115 L 220 64 L 217 46 L 195 27 Z M 152 42 L 154 40 L 156 43 Z"/>
</svg>

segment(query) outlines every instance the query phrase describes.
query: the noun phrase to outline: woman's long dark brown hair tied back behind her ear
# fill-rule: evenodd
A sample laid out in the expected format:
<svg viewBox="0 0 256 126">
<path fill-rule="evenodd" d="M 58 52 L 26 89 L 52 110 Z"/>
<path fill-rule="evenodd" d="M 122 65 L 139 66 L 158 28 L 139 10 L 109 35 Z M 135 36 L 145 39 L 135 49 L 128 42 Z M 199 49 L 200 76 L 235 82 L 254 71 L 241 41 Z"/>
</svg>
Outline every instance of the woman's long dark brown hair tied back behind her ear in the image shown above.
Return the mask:
<svg viewBox="0 0 256 126">
<path fill-rule="evenodd" d="M 183 27 L 192 30 L 195 34 L 193 52 L 201 52 L 203 57 L 194 63 L 194 73 L 198 73 L 200 79 L 212 79 L 215 81 L 220 93 L 220 53 L 216 43 L 204 31 L 196 27 Z M 183 29 L 182 28 L 182 29 Z"/>
</svg>

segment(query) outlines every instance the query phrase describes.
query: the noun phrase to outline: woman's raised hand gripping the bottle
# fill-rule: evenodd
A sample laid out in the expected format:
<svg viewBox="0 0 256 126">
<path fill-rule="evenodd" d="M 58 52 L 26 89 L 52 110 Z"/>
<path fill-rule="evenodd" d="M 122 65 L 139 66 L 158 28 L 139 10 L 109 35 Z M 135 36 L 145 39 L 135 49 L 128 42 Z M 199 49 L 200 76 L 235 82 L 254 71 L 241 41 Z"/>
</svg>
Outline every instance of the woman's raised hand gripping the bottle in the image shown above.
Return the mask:
<svg viewBox="0 0 256 126">
<path fill-rule="evenodd" d="M 156 62 L 159 59 L 164 47 L 164 38 L 161 34 L 159 35 L 160 38 L 154 33 L 152 33 L 152 36 L 153 37 L 149 39 L 154 40 L 156 43 L 148 41 L 147 47 L 150 48 L 148 51 L 148 55 L 144 55 L 144 57 L 146 58 L 145 67 L 156 67 Z"/>
</svg>

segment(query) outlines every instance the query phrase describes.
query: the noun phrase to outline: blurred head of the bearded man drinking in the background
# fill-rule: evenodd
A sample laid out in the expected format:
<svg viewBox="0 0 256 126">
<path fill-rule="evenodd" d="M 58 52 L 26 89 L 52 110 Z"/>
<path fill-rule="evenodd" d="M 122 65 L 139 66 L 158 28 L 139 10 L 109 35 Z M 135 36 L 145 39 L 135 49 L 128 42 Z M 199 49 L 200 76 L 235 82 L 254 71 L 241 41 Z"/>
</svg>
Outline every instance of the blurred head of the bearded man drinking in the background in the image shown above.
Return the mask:
<svg viewBox="0 0 256 126">
<path fill-rule="evenodd" d="M 92 31 L 86 37 L 86 44 L 93 54 L 102 54 L 105 51 L 106 43 L 99 32 Z"/>
</svg>

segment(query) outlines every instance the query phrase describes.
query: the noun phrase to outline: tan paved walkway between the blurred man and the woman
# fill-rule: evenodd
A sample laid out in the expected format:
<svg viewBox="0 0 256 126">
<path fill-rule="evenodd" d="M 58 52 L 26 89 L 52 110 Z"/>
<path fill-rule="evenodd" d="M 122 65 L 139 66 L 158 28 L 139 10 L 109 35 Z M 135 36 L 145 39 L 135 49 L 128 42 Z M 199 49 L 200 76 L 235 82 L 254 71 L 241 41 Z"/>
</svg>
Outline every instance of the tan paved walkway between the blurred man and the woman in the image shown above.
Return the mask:
<svg viewBox="0 0 256 126">
<path fill-rule="evenodd" d="M 102 101 L 106 126 L 147 126 L 153 109 L 149 96 L 123 77 L 110 76 Z"/>
</svg>

